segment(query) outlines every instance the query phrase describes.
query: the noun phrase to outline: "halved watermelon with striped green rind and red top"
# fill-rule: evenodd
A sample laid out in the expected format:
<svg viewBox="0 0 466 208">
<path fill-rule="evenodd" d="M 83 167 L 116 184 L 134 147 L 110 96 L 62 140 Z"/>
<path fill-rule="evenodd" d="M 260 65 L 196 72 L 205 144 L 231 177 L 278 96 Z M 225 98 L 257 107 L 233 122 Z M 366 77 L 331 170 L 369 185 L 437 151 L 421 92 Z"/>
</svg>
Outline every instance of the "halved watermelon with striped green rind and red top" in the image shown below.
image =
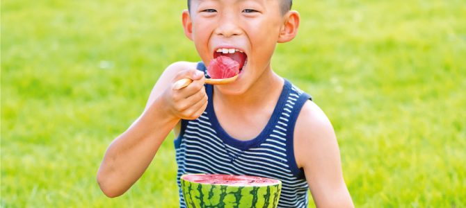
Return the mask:
<svg viewBox="0 0 466 208">
<path fill-rule="evenodd" d="M 188 174 L 181 177 L 186 206 L 277 207 L 282 182 L 248 175 Z"/>
</svg>

